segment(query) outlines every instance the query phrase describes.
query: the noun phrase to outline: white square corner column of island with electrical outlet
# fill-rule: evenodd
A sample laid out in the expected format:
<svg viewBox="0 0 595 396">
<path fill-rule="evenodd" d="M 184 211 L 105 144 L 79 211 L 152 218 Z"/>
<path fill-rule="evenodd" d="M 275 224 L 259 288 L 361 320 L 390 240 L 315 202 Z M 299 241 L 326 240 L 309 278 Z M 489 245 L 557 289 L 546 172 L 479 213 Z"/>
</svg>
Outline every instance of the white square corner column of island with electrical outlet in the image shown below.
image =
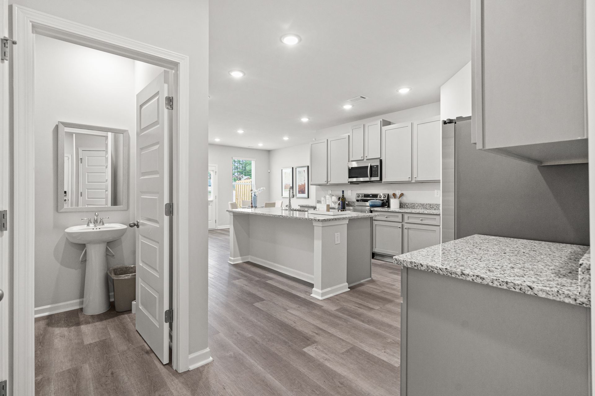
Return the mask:
<svg viewBox="0 0 595 396">
<path fill-rule="evenodd" d="M 347 287 L 347 223 L 349 220 L 312 221 L 314 225 L 314 289 L 324 300 L 349 292 Z M 339 234 L 339 243 L 336 243 Z"/>
</svg>

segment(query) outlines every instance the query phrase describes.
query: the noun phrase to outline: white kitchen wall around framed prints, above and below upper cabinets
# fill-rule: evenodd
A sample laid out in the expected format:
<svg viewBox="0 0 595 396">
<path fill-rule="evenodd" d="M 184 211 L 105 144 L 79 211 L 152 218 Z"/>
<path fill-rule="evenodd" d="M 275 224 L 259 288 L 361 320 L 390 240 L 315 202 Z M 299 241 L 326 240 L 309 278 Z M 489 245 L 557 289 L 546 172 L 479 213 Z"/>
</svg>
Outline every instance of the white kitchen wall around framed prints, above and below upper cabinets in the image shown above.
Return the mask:
<svg viewBox="0 0 595 396">
<path fill-rule="evenodd" d="M 411 109 L 401 110 L 383 114 L 371 118 L 362 119 L 354 122 L 347 122 L 341 125 L 330 126 L 329 128 L 320 129 L 316 132 L 317 138 L 324 139 L 337 135 L 349 133 L 349 126 L 357 123 L 367 123 L 377 119 L 386 119 L 393 123 L 418 121 L 430 118 L 440 114 L 440 103 L 430 103 L 424 106 L 412 107 Z M 298 145 L 295 147 L 280 148 L 271 150 L 271 190 L 273 194 L 271 199 L 281 199 L 281 168 L 289 166 L 302 166 L 310 163 L 309 144 Z M 355 194 L 358 192 L 380 192 L 393 193 L 397 189 L 401 190 L 403 195 L 403 202 L 422 202 L 430 204 L 439 204 L 440 197 L 434 197 L 434 189 L 440 189 L 440 183 L 361 183 L 361 184 L 346 184 L 346 185 L 329 185 L 329 186 L 310 186 L 310 197 L 308 199 L 295 199 L 297 204 L 312 204 L 320 199 L 322 195 L 326 195 L 330 190 L 332 194 L 339 195 L 342 190 L 345 190 L 345 197 L 347 201 L 355 201 Z M 349 196 L 348 191 L 352 191 Z M 284 199 L 284 204 L 287 203 L 287 198 Z"/>
</svg>

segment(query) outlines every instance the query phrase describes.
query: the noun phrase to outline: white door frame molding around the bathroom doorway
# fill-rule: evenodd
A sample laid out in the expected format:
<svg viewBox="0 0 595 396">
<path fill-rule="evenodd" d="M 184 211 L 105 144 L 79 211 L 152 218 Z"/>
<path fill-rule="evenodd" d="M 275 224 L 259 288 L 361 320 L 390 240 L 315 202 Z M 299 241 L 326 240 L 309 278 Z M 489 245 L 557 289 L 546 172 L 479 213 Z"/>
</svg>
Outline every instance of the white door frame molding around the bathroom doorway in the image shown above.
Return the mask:
<svg viewBox="0 0 595 396">
<path fill-rule="evenodd" d="M 12 394 L 35 393 L 35 35 L 124 56 L 173 71 L 174 107 L 173 322 L 172 366 L 189 369 L 189 58 L 18 5 L 11 6 L 13 72 Z M 181 216 L 180 216 L 181 215 Z M 208 353 L 208 351 L 206 351 Z M 208 360 L 210 361 L 210 360 Z M 207 363 L 208 361 L 205 361 Z"/>
</svg>

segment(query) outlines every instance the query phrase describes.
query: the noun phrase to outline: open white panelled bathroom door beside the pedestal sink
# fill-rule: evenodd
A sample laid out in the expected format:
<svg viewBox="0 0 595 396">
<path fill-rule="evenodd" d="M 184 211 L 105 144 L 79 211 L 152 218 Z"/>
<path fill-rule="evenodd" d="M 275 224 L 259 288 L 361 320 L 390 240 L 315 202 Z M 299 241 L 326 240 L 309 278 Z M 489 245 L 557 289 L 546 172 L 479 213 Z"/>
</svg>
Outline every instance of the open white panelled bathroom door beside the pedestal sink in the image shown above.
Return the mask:
<svg viewBox="0 0 595 396">
<path fill-rule="evenodd" d="M 165 109 L 169 72 L 136 95 L 136 330 L 164 364 L 169 362 L 171 110 Z"/>
</svg>

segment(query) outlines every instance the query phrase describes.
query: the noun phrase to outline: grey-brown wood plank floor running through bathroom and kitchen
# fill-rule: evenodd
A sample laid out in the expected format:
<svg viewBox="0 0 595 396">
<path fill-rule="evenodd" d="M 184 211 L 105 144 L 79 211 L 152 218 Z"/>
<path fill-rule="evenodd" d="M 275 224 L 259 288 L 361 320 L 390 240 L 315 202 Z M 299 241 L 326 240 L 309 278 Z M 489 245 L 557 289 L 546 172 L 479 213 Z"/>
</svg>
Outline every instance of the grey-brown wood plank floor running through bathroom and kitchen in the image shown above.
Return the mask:
<svg viewBox="0 0 595 396">
<path fill-rule="evenodd" d="M 400 267 L 315 300 L 312 286 L 255 264 L 230 265 L 229 232 L 209 231 L 209 348 L 177 373 L 134 315 L 82 310 L 35 320 L 36 395 L 398 395 Z"/>
</svg>

